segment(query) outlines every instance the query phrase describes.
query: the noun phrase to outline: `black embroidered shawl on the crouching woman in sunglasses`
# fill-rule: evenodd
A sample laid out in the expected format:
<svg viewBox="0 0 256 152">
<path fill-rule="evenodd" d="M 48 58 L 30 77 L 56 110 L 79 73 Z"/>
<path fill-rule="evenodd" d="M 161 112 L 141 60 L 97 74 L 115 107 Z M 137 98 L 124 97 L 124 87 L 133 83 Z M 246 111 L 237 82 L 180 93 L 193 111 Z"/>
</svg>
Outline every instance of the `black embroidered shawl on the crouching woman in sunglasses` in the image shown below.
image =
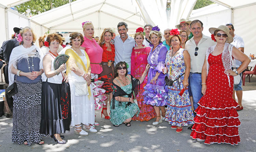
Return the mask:
<svg viewBox="0 0 256 152">
<path fill-rule="evenodd" d="M 131 75 L 131 83 L 132 83 L 132 92 L 130 94 L 127 94 L 121 87 L 119 87 L 118 85 L 112 83 L 112 94 L 113 94 L 113 97 L 111 99 L 111 102 L 112 102 L 112 109 L 115 108 L 115 105 L 114 105 L 114 98 L 115 97 L 122 97 L 122 96 L 125 96 L 125 95 L 128 95 L 129 98 L 131 98 L 133 96 L 133 91 L 134 91 L 134 94 L 135 94 L 135 97 L 137 96 L 137 93 L 138 93 L 138 90 L 139 90 L 139 80 L 138 79 L 135 79 L 132 75 Z M 135 98 L 134 97 L 134 98 Z M 129 106 L 131 104 L 131 102 L 128 102 L 126 104 L 126 107 Z M 119 101 L 119 106 L 121 106 L 121 101 Z M 125 108 L 126 108 L 125 107 Z"/>
</svg>

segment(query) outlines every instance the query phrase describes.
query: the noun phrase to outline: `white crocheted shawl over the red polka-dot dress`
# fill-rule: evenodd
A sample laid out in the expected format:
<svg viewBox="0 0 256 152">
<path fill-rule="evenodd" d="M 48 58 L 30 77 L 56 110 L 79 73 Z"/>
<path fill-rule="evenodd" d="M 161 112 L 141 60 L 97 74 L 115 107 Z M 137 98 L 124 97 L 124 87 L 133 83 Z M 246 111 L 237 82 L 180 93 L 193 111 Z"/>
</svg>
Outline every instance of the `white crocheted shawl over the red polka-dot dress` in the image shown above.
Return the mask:
<svg viewBox="0 0 256 152">
<path fill-rule="evenodd" d="M 206 51 L 207 75 L 208 75 L 208 71 L 209 71 L 209 67 L 210 67 L 210 65 L 208 63 L 208 56 L 213 52 L 215 47 L 216 47 L 216 45 L 211 46 Z M 233 48 L 232 44 L 225 43 L 223 52 L 221 54 L 221 60 L 223 62 L 223 66 L 224 66 L 225 70 L 231 70 L 231 67 L 232 67 L 232 61 L 231 61 L 232 59 L 230 57 L 230 54 L 232 55 L 232 48 Z M 228 77 L 228 82 L 229 82 L 229 87 L 230 87 L 230 79 L 229 79 L 228 75 L 227 75 L 227 77 Z"/>
</svg>

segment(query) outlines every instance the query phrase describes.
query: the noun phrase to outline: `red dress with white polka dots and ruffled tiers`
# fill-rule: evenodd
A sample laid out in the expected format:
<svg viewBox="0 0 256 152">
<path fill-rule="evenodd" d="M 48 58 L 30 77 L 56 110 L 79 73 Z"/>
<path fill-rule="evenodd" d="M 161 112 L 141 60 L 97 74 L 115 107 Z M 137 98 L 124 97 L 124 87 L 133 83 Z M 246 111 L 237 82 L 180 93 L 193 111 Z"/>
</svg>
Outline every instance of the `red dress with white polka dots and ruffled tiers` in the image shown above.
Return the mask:
<svg viewBox="0 0 256 152">
<path fill-rule="evenodd" d="M 222 53 L 221 53 L 222 54 Z M 238 103 L 232 98 L 233 77 L 224 73 L 221 54 L 208 56 L 210 65 L 206 79 L 205 95 L 198 102 L 197 116 L 190 136 L 193 139 L 205 140 L 205 144 L 240 142 L 238 126 L 240 121 L 235 108 Z"/>
</svg>

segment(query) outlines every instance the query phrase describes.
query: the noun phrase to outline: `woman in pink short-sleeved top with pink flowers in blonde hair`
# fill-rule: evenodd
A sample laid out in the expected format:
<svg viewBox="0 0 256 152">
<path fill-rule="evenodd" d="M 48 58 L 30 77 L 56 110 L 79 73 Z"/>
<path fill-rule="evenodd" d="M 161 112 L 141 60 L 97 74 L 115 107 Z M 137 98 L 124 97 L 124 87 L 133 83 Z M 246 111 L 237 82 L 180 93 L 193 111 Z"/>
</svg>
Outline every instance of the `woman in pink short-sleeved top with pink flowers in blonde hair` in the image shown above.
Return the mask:
<svg viewBox="0 0 256 152">
<path fill-rule="evenodd" d="M 84 33 L 84 42 L 81 45 L 80 49 L 86 51 L 91 61 L 91 80 L 93 82 L 93 96 L 95 100 L 95 110 L 98 110 L 103 105 L 105 105 L 104 101 L 107 99 L 107 97 L 104 96 L 106 90 L 100 88 L 104 82 L 98 81 L 98 74 L 103 71 L 101 65 L 103 49 L 92 38 L 94 35 L 94 27 L 92 22 L 83 22 L 82 27 Z M 99 124 L 95 122 L 95 125 Z"/>
</svg>

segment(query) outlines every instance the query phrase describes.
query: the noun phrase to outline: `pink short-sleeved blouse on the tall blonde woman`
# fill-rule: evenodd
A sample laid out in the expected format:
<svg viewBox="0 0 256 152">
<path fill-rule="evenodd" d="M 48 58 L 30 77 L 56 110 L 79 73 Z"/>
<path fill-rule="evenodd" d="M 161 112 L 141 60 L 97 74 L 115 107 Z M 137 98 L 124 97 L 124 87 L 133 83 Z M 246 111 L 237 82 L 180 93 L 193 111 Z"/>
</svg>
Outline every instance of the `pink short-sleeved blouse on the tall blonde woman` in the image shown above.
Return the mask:
<svg viewBox="0 0 256 152">
<path fill-rule="evenodd" d="M 84 41 L 81 47 L 85 47 L 85 52 L 88 54 L 91 62 L 91 73 L 96 73 L 100 74 L 102 70 L 102 66 L 99 65 L 98 63 L 102 62 L 102 54 L 103 54 L 103 49 L 100 47 L 97 42 L 92 39 L 88 39 L 87 37 L 83 37 Z M 97 63 L 97 64 L 93 64 Z"/>
</svg>

